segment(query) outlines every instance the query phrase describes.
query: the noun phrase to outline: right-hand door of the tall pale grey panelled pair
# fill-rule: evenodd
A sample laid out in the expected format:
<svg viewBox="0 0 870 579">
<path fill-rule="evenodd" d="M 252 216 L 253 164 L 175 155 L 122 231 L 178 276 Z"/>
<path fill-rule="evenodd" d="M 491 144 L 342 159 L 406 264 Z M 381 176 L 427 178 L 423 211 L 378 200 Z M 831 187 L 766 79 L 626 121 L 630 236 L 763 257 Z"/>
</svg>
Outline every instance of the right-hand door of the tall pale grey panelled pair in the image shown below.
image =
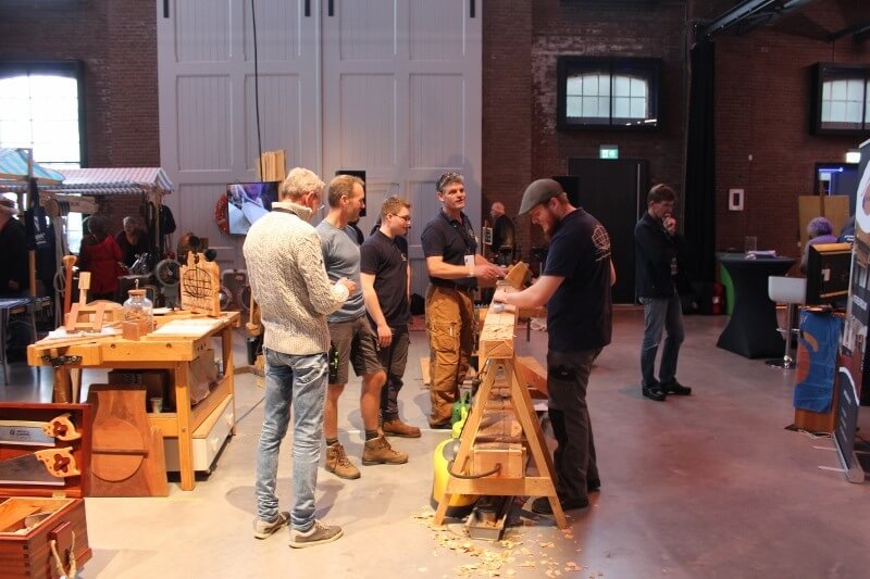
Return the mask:
<svg viewBox="0 0 870 579">
<path fill-rule="evenodd" d="M 481 13 L 470 0 L 333 0 L 323 17 L 323 168 L 364 168 L 368 232 L 390 194 L 411 200 L 413 287 L 435 180 L 465 175 L 481 216 Z M 330 5 L 332 4 L 332 10 Z"/>
</svg>

